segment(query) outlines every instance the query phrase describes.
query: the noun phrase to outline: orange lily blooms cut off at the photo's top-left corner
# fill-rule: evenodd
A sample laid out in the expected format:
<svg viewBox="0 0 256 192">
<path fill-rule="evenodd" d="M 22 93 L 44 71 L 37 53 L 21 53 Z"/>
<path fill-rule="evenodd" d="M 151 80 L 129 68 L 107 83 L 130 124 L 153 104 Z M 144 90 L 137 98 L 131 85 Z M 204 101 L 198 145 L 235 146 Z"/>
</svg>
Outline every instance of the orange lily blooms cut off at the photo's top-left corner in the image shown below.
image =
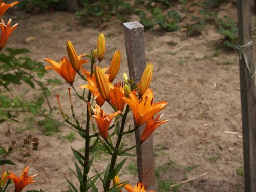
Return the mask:
<svg viewBox="0 0 256 192">
<path fill-rule="evenodd" d="M 6 4 L 2 0 L 0 0 L 0 17 L 4 15 L 4 13 L 9 9 L 10 7 L 13 7 L 14 5 L 18 4 L 19 2 L 13 2 L 11 4 Z M 7 24 L 5 25 L 5 21 L 1 18 L 0 28 L 1 28 L 1 36 L 0 36 L 0 50 L 2 50 L 13 32 L 14 29 L 17 28 L 18 24 L 15 24 L 11 27 L 12 19 L 9 19 Z"/>
</svg>

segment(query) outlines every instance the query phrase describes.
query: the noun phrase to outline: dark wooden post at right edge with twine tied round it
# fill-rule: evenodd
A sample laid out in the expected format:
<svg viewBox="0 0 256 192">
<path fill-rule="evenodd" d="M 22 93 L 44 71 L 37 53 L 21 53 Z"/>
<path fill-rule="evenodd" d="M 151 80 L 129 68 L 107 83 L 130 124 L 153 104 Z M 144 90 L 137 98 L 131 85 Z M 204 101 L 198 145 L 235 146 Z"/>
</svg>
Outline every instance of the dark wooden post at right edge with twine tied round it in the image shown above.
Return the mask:
<svg viewBox="0 0 256 192">
<path fill-rule="evenodd" d="M 243 127 L 245 191 L 256 191 L 256 99 L 253 63 L 250 0 L 238 0 L 238 34 L 240 49 L 240 90 Z M 244 53 L 242 53 L 244 52 Z M 247 64 L 246 65 L 246 59 Z"/>
</svg>

